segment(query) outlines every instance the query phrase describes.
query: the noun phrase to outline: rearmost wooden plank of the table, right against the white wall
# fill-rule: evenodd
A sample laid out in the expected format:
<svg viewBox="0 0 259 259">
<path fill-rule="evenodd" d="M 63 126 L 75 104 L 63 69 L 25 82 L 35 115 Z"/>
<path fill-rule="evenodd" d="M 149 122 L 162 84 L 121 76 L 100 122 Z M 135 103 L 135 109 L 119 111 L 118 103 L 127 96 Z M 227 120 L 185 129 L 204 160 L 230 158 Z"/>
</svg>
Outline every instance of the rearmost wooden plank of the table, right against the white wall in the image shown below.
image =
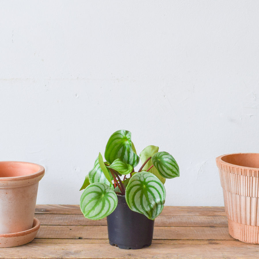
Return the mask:
<svg viewBox="0 0 259 259">
<path fill-rule="evenodd" d="M 82 214 L 79 205 L 36 205 L 36 214 Z M 165 206 L 161 216 L 226 216 L 224 207 Z"/>
</svg>

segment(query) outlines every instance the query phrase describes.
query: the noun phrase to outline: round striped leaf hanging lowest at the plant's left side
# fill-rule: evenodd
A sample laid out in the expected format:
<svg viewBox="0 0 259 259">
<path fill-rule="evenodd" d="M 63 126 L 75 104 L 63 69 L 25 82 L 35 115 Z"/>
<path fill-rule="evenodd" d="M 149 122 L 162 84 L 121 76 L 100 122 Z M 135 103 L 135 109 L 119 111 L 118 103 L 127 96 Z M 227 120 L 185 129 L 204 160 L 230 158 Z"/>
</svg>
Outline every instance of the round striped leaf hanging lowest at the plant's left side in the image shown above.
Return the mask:
<svg viewBox="0 0 259 259">
<path fill-rule="evenodd" d="M 117 203 L 117 195 L 110 186 L 92 183 L 81 195 L 80 208 L 85 218 L 99 220 L 111 214 Z"/>
</svg>

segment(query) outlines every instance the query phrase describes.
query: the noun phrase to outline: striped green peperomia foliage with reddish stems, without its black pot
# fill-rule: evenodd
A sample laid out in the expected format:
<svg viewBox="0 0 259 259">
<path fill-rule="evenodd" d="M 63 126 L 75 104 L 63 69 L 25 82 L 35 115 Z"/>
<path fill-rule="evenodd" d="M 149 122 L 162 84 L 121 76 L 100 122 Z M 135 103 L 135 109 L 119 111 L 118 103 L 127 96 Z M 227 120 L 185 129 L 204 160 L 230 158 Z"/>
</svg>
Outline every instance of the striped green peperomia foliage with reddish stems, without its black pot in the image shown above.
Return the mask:
<svg viewBox="0 0 259 259">
<path fill-rule="evenodd" d="M 98 220 L 111 214 L 117 206 L 117 195 L 125 195 L 129 208 L 154 220 L 165 203 L 165 178 L 179 176 L 174 157 L 158 152 L 158 146 L 147 146 L 138 156 L 131 132 L 118 130 L 109 138 L 105 152 L 85 177 L 80 191 L 80 208 L 84 216 Z M 135 167 L 139 160 L 142 166 Z"/>
</svg>

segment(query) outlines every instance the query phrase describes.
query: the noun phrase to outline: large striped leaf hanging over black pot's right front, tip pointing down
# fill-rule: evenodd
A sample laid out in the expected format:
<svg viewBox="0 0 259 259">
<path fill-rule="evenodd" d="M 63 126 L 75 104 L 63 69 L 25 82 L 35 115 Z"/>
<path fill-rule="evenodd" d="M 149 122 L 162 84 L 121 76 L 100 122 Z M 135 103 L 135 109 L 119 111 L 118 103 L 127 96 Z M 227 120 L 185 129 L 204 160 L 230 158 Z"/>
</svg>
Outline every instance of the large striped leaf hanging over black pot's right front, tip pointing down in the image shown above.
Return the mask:
<svg viewBox="0 0 259 259">
<path fill-rule="evenodd" d="M 165 187 L 155 175 L 142 171 L 130 178 L 125 197 L 131 210 L 154 220 L 163 210 Z"/>
</svg>

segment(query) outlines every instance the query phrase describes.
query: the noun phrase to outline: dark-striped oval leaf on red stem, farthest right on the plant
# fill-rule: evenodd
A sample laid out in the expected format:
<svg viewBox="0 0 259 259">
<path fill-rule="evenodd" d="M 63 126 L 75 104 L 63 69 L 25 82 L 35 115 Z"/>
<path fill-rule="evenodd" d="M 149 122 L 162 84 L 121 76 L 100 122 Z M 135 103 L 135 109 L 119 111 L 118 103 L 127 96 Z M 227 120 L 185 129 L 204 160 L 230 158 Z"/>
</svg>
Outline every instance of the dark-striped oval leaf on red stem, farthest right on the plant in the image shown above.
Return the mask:
<svg viewBox="0 0 259 259">
<path fill-rule="evenodd" d="M 156 153 L 152 157 L 152 162 L 164 178 L 179 177 L 179 166 L 169 153 L 164 151 Z"/>
</svg>

